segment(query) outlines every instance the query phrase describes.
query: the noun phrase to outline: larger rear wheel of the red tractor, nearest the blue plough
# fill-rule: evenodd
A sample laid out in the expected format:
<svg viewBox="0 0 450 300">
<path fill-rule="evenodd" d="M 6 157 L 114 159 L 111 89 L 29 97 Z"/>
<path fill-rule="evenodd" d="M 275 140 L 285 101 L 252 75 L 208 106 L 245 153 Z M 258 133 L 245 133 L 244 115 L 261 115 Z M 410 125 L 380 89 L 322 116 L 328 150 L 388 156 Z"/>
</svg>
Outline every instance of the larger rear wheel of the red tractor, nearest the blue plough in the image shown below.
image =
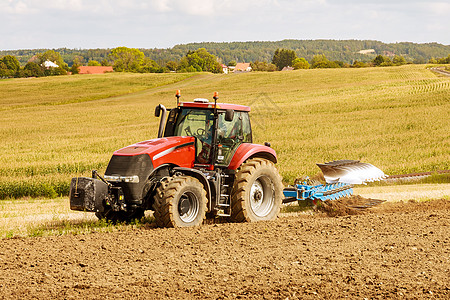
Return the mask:
<svg viewBox="0 0 450 300">
<path fill-rule="evenodd" d="M 231 220 L 256 222 L 273 220 L 280 212 L 283 184 L 273 162 L 253 158 L 236 173 L 231 195 Z"/>
</svg>

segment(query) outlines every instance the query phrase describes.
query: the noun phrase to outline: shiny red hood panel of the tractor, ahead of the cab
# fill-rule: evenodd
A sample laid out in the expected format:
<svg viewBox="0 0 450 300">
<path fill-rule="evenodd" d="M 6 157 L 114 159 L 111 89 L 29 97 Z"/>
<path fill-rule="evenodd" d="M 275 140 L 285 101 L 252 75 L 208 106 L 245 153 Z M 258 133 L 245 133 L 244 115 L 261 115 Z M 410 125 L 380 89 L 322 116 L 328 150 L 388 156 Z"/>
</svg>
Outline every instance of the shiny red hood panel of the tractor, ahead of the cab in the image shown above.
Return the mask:
<svg viewBox="0 0 450 300">
<path fill-rule="evenodd" d="M 192 168 L 195 160 L 195 138 L 172 136 L 152 139 L 127 146 L 114 152 L 117 156 L 150 156 L 153 168 L 166 163 Z"/>
</svg>

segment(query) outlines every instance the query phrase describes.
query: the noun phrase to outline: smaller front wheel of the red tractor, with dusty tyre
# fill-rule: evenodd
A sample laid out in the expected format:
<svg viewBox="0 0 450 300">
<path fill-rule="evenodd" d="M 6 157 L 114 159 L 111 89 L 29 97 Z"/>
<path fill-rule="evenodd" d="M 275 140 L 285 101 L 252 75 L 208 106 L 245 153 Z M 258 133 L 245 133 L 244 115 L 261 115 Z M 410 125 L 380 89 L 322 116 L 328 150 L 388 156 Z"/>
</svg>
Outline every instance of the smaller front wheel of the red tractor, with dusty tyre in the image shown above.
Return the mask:
<svg viewBox="0 0 450 300">
<path fill-rule="evenodd" d="M 206 191 L 196 178 L 163 179 L 156 190 L 153 216 L 158 227 L 200 226 L 206 216 Z"/>
</svg>

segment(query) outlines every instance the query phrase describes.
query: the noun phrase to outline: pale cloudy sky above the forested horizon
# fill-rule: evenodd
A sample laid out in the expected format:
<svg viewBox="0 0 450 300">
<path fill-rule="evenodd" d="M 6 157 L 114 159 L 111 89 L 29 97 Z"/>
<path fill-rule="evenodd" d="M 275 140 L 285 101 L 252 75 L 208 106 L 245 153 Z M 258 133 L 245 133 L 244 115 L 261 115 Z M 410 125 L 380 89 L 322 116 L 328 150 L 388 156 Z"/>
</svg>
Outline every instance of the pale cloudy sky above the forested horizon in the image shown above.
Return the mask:
<svg viewBox="0 0 450 300">
<path fill-rule="evenodd" d="M 450 45 L 450 0 L 0 0 L 0 50 L 370 39 Z"/>
</svg>

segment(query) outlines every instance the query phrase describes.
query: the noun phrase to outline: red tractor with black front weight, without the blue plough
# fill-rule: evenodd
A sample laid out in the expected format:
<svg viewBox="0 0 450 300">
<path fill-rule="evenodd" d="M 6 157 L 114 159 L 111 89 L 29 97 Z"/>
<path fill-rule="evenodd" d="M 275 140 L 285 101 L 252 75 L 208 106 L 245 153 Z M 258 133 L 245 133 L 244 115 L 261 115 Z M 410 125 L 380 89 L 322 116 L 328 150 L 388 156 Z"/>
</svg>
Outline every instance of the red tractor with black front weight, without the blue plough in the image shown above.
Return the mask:
<svg viewBox="0 0 450 300">
<path fill-rule="evenodd" d="M 161 117 L 158 138 L 114 152 L 104 177 L 73 178 L 70 208 L 112 222 L 153 210 L 160 227 L 198 226 L 206 217 L 275 219 L 283 198 L 277 156 L 252 143 L 250 107 L 206 99 L 179 102 Z M 168 114 L 168 115 L 167 115 Z M 166 121 L 167 118 L 167 121 Z"/>
</svg>

